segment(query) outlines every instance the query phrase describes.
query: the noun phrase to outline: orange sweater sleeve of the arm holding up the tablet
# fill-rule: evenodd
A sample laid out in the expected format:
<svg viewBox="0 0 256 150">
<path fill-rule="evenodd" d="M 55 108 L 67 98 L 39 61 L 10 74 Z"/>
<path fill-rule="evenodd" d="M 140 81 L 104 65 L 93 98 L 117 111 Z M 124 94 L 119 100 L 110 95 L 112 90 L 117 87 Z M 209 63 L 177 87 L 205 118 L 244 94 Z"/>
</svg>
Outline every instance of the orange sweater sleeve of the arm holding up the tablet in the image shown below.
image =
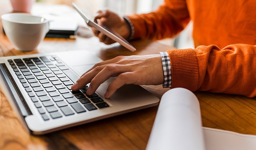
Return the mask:
<svg viewBox="0 0 256 150">
<path fill-rule="evenodd" d="M 185 0 L 165 0 L 155 12 L 127 17 L 134 26 L 133 38 L 153 40 L 173 37 L 181 32 L 190 20 Z"/>
</svg>

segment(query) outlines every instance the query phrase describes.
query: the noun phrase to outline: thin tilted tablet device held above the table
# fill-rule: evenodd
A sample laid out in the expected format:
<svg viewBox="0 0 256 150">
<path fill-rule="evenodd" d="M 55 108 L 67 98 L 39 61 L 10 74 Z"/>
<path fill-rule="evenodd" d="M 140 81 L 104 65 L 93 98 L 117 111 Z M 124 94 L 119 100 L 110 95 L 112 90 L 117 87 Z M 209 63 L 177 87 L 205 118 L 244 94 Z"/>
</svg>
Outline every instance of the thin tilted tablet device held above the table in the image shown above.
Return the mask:
<svg viewBox="0 0 256 150">
<path fill-rule="evenodd" d="M 77 7 L 77 5 L 75 3 L 72 3 L 72 6 L 81 15 L 81 17 L 83 17 L 84 21 L 88 25 L 94 27 L 99 32 L 102 32 L 103 34 L 105 34 L 109 38 L 113 39 L 114 41 L 119 42 L 122 46 L 129 49 L 130 51 L 132 51 L 132 52 L 136 51 L 136 48 L 134 48 L 129 42 L 127 42 L 122 36 L 120 36 L 120 34 L 118 34 L 117 32 L 115 32 L 111 29 L 100 26 L 96 22 L 92 21 L 90 18 L 90 14 L 88 12 L 82 11 L 80 8 Z"/>
</svg>

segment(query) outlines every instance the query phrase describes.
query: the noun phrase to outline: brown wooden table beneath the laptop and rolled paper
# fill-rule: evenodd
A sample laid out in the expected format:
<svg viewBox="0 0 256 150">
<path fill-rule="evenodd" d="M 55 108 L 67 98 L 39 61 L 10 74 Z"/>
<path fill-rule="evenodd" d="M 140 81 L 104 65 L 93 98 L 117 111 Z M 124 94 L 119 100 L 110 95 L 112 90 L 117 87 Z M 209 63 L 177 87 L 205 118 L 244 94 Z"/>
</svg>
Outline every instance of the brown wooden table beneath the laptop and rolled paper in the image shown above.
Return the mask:
<svg viewBox="0 0 256 150">
<path fill-rule="evenodd" d="M 107 60 L 118 55 L 145 55 L 173 49 L 153 41 L 131 43 L 137 48 L 135 53 L 118 44 L 105 46 L 96 37 L 77 37 L 76 40 L 46 38 L 38 50 L 24 53 L 15 50 L 8 38 L 0 32 L 0 56 L 76 49 L 90 51 L 96 47 L 99 49 L 94 53 Z M 144 87 L 158 98 L 168 90 L 161 85 Z M 19 123 L 2 90 L 0 94 L 0 149 L 145 149 L 157 112 L 156 106 L 42 136 L 33 136 Z M 255 98 L 199 91 L 195 94 L 200 102 L 204 127 L 256 134 Z"/>
</svg>

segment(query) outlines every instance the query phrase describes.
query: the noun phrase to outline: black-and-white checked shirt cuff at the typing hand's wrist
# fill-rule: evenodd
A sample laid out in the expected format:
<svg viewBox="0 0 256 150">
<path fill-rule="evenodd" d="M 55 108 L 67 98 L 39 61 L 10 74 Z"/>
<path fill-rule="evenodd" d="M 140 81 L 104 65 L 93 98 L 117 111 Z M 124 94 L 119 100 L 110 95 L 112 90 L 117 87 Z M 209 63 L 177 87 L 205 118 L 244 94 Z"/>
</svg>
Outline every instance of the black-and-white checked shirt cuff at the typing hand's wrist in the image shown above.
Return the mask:
<svg viewBox="0 0 256 150">
<path fill-rule="evenodd" d="M 163 88 L 172 87 L 171 62 L 167 52 L 160 52 L 163 64 Z"/>
</svg>

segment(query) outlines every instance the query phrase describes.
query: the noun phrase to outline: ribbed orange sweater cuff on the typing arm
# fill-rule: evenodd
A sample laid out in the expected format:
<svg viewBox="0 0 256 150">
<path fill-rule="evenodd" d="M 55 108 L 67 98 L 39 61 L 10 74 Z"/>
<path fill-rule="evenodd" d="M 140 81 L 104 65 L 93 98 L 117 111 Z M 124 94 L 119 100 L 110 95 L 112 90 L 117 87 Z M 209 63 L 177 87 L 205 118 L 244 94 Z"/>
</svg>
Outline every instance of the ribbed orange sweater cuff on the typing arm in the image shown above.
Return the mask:
<svg viewBox="0 0 256 150">
<path fill-rule="evenodd" d="M 197 90 L 199 70 L 194 50 L 169 50 L 167 53 L 171 61 L 172 88 Z"/>
</svg>

